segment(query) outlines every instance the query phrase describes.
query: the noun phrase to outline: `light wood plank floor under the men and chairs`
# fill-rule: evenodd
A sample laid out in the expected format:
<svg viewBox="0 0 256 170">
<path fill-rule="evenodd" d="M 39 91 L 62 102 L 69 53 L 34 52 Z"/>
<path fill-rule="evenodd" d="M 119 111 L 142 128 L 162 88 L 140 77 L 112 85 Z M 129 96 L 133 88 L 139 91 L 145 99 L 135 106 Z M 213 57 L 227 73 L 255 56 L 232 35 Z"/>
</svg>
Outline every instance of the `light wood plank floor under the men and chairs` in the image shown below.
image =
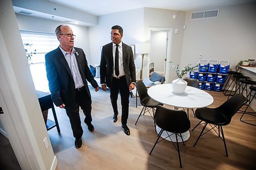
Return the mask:
<svg viewBox="0 0 256 170">
<path fill-rule="evenodd" d="M 210 107 L 217 107 L 226 101 L 222 92 L 207 91 L 214 97 Z M 135 107 L 135 98 L 130 99 L 130 115 L 127 125 L 131 135 L 126 136 L 121 128 L 121 117 L 113 123 L 113 110 L 109 92 L 101 89 L 92 94 L 92 116 L 95 130 L 89 132 L 83 123 L 84 115 L 80 111 L 83 128 L 83 146 L 74 147 L 74 138 L 65 110 L 56 108 L 61 133 L 56 128 L 48 131 L 54 154 L 57 157 L 58 170 L 65 169 L 180 169 L 178 153 L 172 142 L 164 140 L 156 145 L 157 133 L 150 116 L 136 119 L 142 109 Z M 120 100 L 120 99 L 119 99 Z M 138 100 L 139 101 L 139 100 Z M 121 113 L 119 101 L 119 113 Z M 49 116 L 51 113 L 49 110 Z M 214 131 L 205 134 L 196 147 L 193 147 L 202 126 L 191 131 L 199 122 L 190 112 L 190 138 L 185 146 L 180 144 L 183 169 L 256 169 L 256 129 L 254 126 L 240 122 L 240 113 L 232 118 L 228 126 L 223 127 L 229 156 L 225 156 L 223 141 Z M 248 116 L 245 116 L 248 117 Z M 248 117 L 254 119 L 253 117 Z M 256 123 L 256 121 L 254 121 Z"/>
</svg>

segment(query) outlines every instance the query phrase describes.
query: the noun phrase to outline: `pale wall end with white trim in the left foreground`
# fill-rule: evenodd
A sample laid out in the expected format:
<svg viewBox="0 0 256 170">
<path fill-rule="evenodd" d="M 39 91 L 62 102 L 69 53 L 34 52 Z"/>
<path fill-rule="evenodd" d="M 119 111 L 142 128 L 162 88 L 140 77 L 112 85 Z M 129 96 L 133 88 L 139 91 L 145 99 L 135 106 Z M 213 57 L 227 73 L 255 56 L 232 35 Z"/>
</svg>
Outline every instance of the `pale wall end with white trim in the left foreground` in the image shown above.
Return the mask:
<svg viewBox="0 0 256 170">
<path fill-rule="evenodd" d="M 0 87 L 1 90 L 6 89 L 3 90 L 3 98 L 12 119 L 12 124 L 4 124 L 4 128 L 22 169 L 55 168 L 57 160 L 41 117 L 11 1 L 1 1 L 0 13 L 1 75 L 7 80 Z M 5 95 L 7 92 L 9 95 Z M 44 138 L 49 142 L 47 150 Z"/>
</svg>

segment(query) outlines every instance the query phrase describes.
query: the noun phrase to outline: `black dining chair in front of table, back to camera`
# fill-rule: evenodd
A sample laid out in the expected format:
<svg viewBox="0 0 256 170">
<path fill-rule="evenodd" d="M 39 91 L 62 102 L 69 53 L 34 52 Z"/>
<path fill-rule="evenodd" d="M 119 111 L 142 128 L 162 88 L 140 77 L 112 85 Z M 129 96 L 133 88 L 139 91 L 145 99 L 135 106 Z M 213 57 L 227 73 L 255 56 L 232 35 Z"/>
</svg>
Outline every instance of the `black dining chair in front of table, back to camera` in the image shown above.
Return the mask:
<svg viewBox="0 0 256 170">
<path fill-rule="evenodd" d="M 185 145 L 183 138 L 181 136 L 181 133 L 185 133 L 190 128 L 190 121 L 187 118 L 186 112 L 183 110 L 172 110 L 172 109 L 165 108 L 163 106 L 157 106 L 156 114 L 155 114 L 155 122 L 156 122 L 156 125 L 159 128 L 161 128 L 161 131 L 158 134 L 158 138 L 150 152 L 150 155 L 153 152 L 156 144 L 165 139 L 164 138 L 159 141 L 159 138 L 163 133 L 163 131 L 166 131 L 167 134 L 168 132 L 172 133 L 172 134 L 168 134 L 167 137 L 169 137 L 169 139 L 173 142 L 173 144 L 174 142 L 177 143 L 177 148 L 175 144 L 174 144 L 174 147 L 178 151 L 180 167 L 182 167 L 181 158 L 180 158 L 180 148 L 179 148 L 179 142 L 177 137 L 179 135 L 182 139 L 183 145 Z M 173 134 L 175 134 L 176 136 L 176 141 L 173 141 L 170 138 L 170 135 L 173 135 Z"/>
</svg>

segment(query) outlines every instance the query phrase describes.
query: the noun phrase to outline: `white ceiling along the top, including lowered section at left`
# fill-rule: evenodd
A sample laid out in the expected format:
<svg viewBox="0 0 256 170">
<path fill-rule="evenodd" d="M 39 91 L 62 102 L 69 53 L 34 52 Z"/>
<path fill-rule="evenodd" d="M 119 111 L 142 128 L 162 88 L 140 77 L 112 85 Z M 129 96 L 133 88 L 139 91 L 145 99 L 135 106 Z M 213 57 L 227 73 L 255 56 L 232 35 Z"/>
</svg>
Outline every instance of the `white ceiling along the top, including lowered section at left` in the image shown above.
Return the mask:
<svg viewBox="0 0 256 170">
<path fill-rule="evenodd" d="M 84 19 L 88 14 L 90 15 L 89 17 L 92 18 L 93 16 L 95 17 L 138 8 L 160 8 L 195 12 L 219 9 L 223 6 L 246 4 L 256 2 L 256 0 L 23 0 L 22 2 L 19 0 L 12 0 L 12 2 L 16 4 L 14 5 L 14 11 L 16 13 L 24 10 L 32 12 L 33 14 L 30 16 L 61 22 L 66 22 L 66 20 L 68 20 L 71 21 L 69 23 L 90 27 L 93 26 L 94 23 L 86 22 L 86 19 Z M 39 7 L 40 5 L 41 7 Z M 72 12 L 74 13 L 73 17 L 69 17 L 64 10 L 66 13 L 54 15 L 52 12 L 49 12 L 49 10 L 53 10 L 55 6 L 57 7 L 57 12 L 59 8 L 59 11 L 62 11 L 61 6 L 64 6 L 66 9 L 70 9 L 70 11 L 76 10 L 76 12 L 81 13 L 78 14 Z"/>
</svg>

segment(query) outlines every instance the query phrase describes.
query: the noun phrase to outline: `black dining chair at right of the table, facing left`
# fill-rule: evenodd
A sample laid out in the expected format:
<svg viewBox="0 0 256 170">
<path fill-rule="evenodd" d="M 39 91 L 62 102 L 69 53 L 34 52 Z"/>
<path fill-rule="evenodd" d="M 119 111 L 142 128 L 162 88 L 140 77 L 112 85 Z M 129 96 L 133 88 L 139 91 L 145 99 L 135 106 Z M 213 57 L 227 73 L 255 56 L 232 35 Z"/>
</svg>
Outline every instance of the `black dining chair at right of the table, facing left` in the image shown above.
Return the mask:
<svg viewBox="0 0 256 170">
<path fill-rule="evenodd" d="M 209 132 L 210 130 L 213 129 L 216 132 L 215 128 L 217 128 L 218 126 L 218 133 L 216 133 L 223 140 L 226 156 L 228 156 L 222 126 L 228 125 L 231 122 L 233 115 L 236 114 L 237 111 L 247 102 L 248 100 L 245 98 L 243 94 L 234 94 L 230 99 L 228 99 L 226 102 L 224 102 L 221 106 L 217 108 L 204 107 L 197 109 L 196 117 L 201 121 L 197 124 L 197 126 L 195 126 L 195 128 L 193 128 L 193 130 L 196 129 L 199 125 L 204 124 L 204 126 L 193 147 L 196 146 L 200 137 Z M 203 133 L 208 124 L 211 126 L 211 129 Z M 222 137 L 220 136 L 220 132 Z"/>
</svg>

